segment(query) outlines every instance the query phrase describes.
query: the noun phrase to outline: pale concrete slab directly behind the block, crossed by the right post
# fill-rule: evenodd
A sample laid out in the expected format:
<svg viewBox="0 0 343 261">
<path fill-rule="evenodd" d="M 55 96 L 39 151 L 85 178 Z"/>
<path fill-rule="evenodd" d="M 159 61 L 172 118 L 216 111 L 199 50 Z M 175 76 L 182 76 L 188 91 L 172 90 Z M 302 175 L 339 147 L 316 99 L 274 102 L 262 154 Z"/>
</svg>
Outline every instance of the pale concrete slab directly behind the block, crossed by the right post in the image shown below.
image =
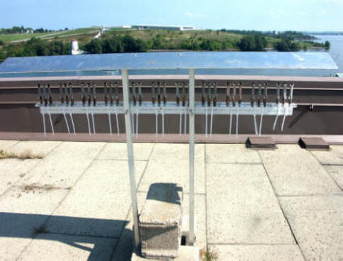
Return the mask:
<svg viewBox="0 0 343 261">
<path fill-rule="evenodd" d="M 204 145 L 195 146 L 194 183 L 196 193 L 205 193 L 205 159 Z M 189 145 L 167 144 L 154 145 L 152 155 L 147 164 L 139 191 L 148 191 L 150 184 L 155 182 L 178 183 L 189 192 Z"/>
</svg>

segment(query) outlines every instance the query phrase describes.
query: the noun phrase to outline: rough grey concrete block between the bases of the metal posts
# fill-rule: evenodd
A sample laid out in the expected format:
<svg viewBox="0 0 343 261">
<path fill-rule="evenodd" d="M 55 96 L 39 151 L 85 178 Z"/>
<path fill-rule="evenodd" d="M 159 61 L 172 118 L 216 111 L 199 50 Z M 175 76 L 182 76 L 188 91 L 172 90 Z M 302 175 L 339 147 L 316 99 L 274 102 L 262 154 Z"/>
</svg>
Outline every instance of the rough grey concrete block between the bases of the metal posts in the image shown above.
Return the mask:
<svg viewBox="0 0 343 261">
<path fill-rule="evenodd" d="M 139 221 L 143 257 L 179 256 L 182 195 L 182 188 L 174 183 L 150 186 Z"/>
</svg>

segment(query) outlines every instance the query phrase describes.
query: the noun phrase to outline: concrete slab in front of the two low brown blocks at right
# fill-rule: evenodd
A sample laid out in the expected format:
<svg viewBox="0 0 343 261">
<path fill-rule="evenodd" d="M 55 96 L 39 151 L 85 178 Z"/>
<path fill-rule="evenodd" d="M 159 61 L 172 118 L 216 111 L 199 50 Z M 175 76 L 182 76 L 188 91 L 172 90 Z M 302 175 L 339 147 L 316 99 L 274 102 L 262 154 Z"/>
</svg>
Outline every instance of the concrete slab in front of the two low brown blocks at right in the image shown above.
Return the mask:
<svg viewBox="0 0 343 261">
<path fill-rule="evenodd" d="M 259 154 L 278 196 L 340 191 L 311 152 L 298 145 L 278 145 L 277 150 Z"/>
</svg>

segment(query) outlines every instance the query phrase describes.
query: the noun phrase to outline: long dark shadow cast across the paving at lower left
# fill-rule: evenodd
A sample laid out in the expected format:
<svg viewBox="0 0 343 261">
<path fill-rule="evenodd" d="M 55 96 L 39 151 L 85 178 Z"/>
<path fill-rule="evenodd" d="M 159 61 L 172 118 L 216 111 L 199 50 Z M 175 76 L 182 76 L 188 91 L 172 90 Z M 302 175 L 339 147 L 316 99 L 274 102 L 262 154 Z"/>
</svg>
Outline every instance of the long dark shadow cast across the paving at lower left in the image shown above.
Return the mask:
<svg viewBox="0 0 343 261">
<path fill-rule="evenodd" d="M 113 251 L 116 250 L 119 241 L 120 232 L 127 223 L 128 221 L 123 220 L 0 212 L 0 238 L 55 240 L 88 251 L 88 260 L 111 260 Z M 72 233 L 65 229 L 65 224 L 73 226 Z M 53 231 L 50 231 L 50 227 Z M 101 231 L 113 227 L 118 228 L 117 234 L 101 235 Z M 64 228 L 65 231 L 58 231 L 59 228 Z M 89 231 L 89 228 L 92 228 L 91 231 Z M 84 233 L 87 230 L 89 233 Z M 81 231 L 81 233 L 74 233 L 74 231 Z M 123 243 L 128 244 L 122 244 L 125 249 L 123 254 L 125 255 L 118 256 L 118 259 L 113 257 L 113 260 L 130 260 L 133 251 L 132 231 L 125 228 L 121 235 L 122 238 L 125 237 Z M 49 250 L 40 251 L 40 255 L 44 252 L 46 253 L 46 259 L 49 259 Z"/>
</svg>

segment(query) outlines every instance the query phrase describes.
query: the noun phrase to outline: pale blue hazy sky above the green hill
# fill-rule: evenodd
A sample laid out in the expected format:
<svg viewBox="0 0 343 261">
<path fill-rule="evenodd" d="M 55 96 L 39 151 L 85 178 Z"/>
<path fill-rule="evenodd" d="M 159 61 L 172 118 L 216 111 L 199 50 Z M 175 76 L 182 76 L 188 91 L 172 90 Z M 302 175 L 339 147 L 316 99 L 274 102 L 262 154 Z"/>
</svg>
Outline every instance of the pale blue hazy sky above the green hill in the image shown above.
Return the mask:
<svg viewBox="0 0 343 261">
<path fill-rule="evenodd" d="M 343 0 L 1 0 L 0 28 L 140 23 L 246 30 L 343 30 Z"/>
</svg>

